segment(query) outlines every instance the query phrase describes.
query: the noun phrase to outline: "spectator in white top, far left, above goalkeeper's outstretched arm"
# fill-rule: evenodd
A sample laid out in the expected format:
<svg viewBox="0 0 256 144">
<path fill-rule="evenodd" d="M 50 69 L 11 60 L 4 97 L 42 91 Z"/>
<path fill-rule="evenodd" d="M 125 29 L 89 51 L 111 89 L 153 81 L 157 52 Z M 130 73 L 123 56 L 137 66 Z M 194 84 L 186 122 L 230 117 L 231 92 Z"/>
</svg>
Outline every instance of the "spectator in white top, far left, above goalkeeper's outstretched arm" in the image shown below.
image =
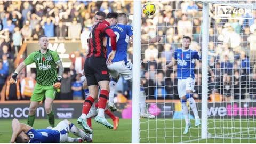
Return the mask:
<svg viewBox="0 0 256 144">
<path fill-rule="evenodd" d="M 14 28 L 14 33 L 12 35 L 12 41 L 13 41 L 13 50 L 15 50 L 15 55 L 17 55 L 20 50 L 20 46 L 22 44 L 22 35 L 20 33 L 19 27 Z"/>
</svg>

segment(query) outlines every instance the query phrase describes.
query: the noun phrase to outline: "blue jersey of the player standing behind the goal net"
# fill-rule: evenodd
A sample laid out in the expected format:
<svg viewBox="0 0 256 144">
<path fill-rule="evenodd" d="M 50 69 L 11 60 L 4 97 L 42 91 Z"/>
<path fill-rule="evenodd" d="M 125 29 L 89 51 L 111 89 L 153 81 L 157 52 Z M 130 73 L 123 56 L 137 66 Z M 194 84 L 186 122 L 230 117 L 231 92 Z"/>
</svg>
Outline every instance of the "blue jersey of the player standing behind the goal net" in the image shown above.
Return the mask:
<svg viewBox="0 0 256 144">
<path fill-rule="evenodd" d="M 174 52 L 174 59 L 177 60 L 177 77 L 178 79 L 186 79 L 188 77 L 195 78 L 195 59 L 201 59 L 200 54 L 193 50 L 182 50 L 178 48 Z"/>
</svg>

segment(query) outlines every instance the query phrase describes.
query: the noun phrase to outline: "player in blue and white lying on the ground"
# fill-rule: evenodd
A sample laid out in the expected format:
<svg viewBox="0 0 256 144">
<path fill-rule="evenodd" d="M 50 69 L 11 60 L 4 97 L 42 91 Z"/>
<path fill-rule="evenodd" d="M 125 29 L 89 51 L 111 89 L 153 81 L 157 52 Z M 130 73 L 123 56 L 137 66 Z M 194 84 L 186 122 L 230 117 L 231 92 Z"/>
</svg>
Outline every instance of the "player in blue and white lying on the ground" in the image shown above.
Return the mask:
<svg viewBox="0 0 256 144">
<path fill-rule="evenodd" d="M 12 138 L 11 143 L 81 143 L 84 140 L 92 142 L 89 134 L 78 129 L 68 120 L 63 120 L 52 129 L 33 129 L 33 127 L 20 123 L 18 119 L 12 120 Z M 79 138 L 68 137 L 71 132 Z"/>
</svg>

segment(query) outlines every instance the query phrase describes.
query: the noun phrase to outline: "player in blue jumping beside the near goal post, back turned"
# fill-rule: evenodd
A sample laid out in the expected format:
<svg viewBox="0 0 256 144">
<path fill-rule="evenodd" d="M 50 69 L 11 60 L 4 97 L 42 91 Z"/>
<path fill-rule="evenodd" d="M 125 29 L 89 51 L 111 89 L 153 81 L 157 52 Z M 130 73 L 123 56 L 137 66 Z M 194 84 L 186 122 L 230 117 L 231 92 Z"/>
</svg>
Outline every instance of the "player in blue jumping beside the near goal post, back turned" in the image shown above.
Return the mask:
<svg viewBox="0 0 256 144">
<path fill-rule="evenodd" d="M 109 108 L 111 111 L 116 111 L 114 105 L 114 93 L 116 89 L 116 84 L 119 79 L 119 76 L 123 76 L 125 80 L 132 80 L 132 63 L 127 60 L 127 46 L 129 43 L 129 38 L 133 38 L 133 28 L 130 25 L 127 25 L 128 18 L 125 13 L 119 13 L 117 17 L 117 24 L 110 26 L 110 28 L 116 34 L 116 55 L 112 60 L 112 63 L 108 65 L 109 74 L 112 77 L 109 83 L 110 92 L 109 92 Z M 142 44 L 155 43 L 160 41 L 160 38 L 153 38 L 150 41 L 141 39 Z M 107 39 L 107 55 L 111 52 L 111 43 L 110 38 Z M 135 95 L 137 96 L 137 95 Z M 138 97 L 138 96 L 137 96 Z M 141 89 L 140 92 L 140 116 L 144 118 L 155 118 L 154 115 L 147 113 L 146 110 L 146 95 L 144 89 Z"/>
</svg>

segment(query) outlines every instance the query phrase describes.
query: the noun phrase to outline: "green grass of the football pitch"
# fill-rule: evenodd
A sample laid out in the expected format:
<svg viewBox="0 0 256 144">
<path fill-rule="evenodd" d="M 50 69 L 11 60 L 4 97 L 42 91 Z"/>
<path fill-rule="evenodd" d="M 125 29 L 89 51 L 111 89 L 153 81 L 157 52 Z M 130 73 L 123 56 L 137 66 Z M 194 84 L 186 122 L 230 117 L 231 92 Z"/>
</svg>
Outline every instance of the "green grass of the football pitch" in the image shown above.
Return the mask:
<svg viewBox="0 0 256 144">
<path fill-rule="evenodd" d="M 61 121 L 57 119 L 55 123 Z M 109 119 L 109 121 L 111 121 Z M 20 120 L 20 122 L 26 123 L 26 120 Z M 76 119 L 71 119 L 71 122 L 76 124 Z M 47 127 L 47 120 L 36 119 L 35 129 L 42 129 Z M 183 130 L 181 127 L 185 125 L 184 121 L 173 120 L 173 119 L 157 119 L 147 121 L 142 119 L 141 121 L 141 140 L 143 143 L 256 143 L 255 135 L 256 131 L 253 127 L 256 126 L 255 121 L 238 119 L 234 121 L 230 120 L 211 120 L 209 119 L 209 132 L 214 135 L 218 133 L 219 136 L 224 138 L 210 138 L 207 140 L 200 139 L 201 129 L 194 125 L 194 121 L 191 121 L 192 127 L 187 135 L 182 134 Z M 100 124 L 92 123 L 94 137 L 94 143 L 130 143 L 131 142 L 131 120 L 121 119 L 117 131 L 106 129 Z M 215 127 L 213 129 L 213 127 Z M 220 127 L 224 127 L 221 129 Z M 233 127 L 230 128 L 230 127 Z M 241 128 L 240 128 L 241 127 Z M 247 128 L 247 127 L 250 127 Z M 233 133 L 233 135 L 231 135 Z M 7 143 L 10 141 L 12 134 L 11 130 L 11 120 L 0 121 L 0 142 Z M 230 134 L 230 135 L 227 135 Z M 73 137 L 72 134 L 70 134 Z M 233 139 L 231 139 L 233 137 Z M 243 139 L 240 139 L 242 138 Z M 250 139 L 249 139 L 250 138 Z"/>
</svg>

